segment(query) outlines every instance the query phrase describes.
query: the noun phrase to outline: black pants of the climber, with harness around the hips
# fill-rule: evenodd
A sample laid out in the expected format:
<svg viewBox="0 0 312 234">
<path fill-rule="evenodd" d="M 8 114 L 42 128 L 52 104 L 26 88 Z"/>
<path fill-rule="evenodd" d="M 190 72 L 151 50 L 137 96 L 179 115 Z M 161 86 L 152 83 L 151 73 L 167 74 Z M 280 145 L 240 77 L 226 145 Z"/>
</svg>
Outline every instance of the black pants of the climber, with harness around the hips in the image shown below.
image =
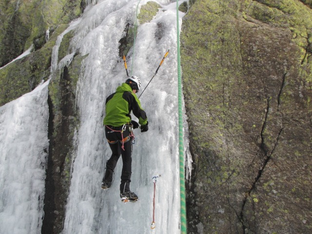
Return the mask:
<svg viewBox="0 0 312 234">
<path fill-rule="evenodd" d="M 110 129 L 112 130 L 110 130 Z M 120 182 L 120 193 L 125 193 L 130 191 L 130 182 L 131 182 L 131 164 L 132 164 L 132 141 L 129 137 L 130 131 L 129 128 L 123 131 L 122 135 L 120 132 L 122 126 L 112 127 L 105 126 L 105 136 L 109 142 L 109 146 L 112 150 L 112 156 L 106 161 L 106 171 L 104 174 L 103 182 L 106 183 L 109 187 L 112 184 L 113 173 L 116 167 L 117 161 L 121 155 L 122 158 L 122 171 L 121 171 L 121 182 Z M 122 149 L 122 141 L 123 149 Z"/>
</svg>

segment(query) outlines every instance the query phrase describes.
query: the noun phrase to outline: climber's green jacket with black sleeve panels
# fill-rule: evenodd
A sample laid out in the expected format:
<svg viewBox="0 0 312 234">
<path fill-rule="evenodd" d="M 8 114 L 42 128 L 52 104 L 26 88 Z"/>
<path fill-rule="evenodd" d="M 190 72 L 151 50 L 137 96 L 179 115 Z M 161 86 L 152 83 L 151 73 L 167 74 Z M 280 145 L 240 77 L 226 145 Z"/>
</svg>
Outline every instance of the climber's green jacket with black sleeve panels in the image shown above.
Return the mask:
<svg viewBox="0 0 312 234">
<path fill-rule="evenodd" d="M 146 113 L 137 95 L 132 93 L 129 84 L 122 83 L 117 87 L 116 93 L 106 98 L 106 115 L 103 124 L 114 127 L 122 126 L 131 121 L 131 112 L 138 118 L 139 124 L 147 123 Z"/>
</svg>

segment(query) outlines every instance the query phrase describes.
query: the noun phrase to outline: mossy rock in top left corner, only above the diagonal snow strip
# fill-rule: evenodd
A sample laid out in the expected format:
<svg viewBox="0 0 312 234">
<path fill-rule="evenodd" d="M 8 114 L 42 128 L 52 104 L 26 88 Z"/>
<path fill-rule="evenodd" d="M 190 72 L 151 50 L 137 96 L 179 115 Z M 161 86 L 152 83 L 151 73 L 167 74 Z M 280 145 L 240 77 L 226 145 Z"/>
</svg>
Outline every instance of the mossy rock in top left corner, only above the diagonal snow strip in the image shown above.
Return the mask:
<svg viewBox="0 0 312 234">
<path fill-rule="evenodd" d="M 0 21 L 3 22 L 0 25 L 0 66 L 18 57 L 32 44 L 36 50 L 41 48 L 46 43 L 49 27 L 56 28 L 78 18 L 84 7 L 82 0 L 0 0 Z"/>
</svg>

